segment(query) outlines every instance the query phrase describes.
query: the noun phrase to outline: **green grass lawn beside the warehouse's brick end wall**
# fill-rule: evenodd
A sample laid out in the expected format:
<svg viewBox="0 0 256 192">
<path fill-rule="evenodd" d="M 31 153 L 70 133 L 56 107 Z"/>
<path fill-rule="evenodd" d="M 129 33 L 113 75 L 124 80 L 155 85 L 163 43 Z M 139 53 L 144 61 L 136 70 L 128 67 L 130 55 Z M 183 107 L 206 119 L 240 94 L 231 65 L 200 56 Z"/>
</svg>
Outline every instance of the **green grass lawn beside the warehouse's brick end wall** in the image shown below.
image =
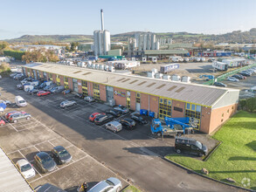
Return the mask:
<svg viewBox="0 0 256 192">
<path fill-rule="evenodd" d="M 206 168 L 210 177 L 223 182 L 231 177 L 242 187 L 246 187 L 242 184 L 243 178 L 249 178 L 251 182 L 247 188 L 256 189 L 256 113 L 237 113 L 212 138 L 222 144 L 207 161 L 179 154 L 166 157 L 198 173 Z"/>
</svg>

